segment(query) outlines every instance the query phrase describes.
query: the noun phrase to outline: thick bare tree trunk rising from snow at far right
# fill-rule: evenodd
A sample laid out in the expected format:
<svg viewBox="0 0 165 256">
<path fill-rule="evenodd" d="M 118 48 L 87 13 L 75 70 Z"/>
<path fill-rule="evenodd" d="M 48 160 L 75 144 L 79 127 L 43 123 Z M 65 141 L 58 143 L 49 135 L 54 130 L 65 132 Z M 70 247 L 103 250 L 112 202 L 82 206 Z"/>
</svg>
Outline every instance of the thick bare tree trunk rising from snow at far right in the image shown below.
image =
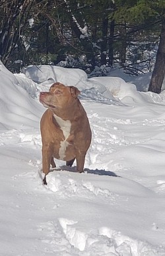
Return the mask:
<svg viewBox="0 0 165 256">
<path fill-rule="evenodd" d="M 165 74 L 165 19 L 162 21 L 162 31 L 160 33 L 160 42 L 156 54 L 156 62 L 152 72 L 152 78 L 149 84 L 149 91 L 160 94 L 162 82 Z"/>
</svg>

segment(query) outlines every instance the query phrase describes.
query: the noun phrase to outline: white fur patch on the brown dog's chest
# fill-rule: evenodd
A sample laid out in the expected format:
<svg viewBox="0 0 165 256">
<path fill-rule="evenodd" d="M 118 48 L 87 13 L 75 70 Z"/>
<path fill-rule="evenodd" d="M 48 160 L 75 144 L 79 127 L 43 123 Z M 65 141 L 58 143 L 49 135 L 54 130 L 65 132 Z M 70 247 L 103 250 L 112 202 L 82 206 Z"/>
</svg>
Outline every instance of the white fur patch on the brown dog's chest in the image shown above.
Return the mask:
<svg viewBox="0 0 165 256">
<path fill-rule="evenodd" d="M 59 148 L 59 158 L 63 160 L 65 158 L 65 151 L 67 149 L 67 146 L 69 143 L 67 142 L 67 139 L 71 132 L 71 121 L 69 120 L 63 120 L 61 117 L 57 117 L 57 115 L 53 114 L 55 120 L 57 121 L 59 127 L 63 131 L 64 140 L 60 143 Z"/>
</svg>

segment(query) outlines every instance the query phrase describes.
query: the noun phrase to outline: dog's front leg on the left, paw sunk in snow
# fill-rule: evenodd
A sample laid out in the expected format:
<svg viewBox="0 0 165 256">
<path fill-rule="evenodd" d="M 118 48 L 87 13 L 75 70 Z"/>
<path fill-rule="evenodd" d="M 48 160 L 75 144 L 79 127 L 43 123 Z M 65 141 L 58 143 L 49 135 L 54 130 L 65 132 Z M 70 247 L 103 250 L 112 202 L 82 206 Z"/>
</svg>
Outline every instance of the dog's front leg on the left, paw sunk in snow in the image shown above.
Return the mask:
<svg viewBox="0 0 165 256">
<path fill-rule="evenodd" d="M 45 177 L 43 179 L 43 182 L 45 185 L 47 185 L 46 182 L 46 175 L 49 173 L 50 163 L 51 163 L 51 149 L 49 148 L 49 145 L 43 145 L 42 146 L 42 172 L 44 172 Z"/>
</svg>

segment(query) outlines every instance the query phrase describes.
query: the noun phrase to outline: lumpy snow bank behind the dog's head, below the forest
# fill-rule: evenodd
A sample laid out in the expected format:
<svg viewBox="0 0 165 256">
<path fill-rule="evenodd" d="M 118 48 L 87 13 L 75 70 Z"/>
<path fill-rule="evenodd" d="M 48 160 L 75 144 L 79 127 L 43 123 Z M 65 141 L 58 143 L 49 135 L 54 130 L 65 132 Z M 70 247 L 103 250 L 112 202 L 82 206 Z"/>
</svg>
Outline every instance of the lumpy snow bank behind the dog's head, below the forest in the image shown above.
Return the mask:
<svg viewBox="0 0 165 256">
<path fill-rule="evenodd" d="M 140 91 L 147 91 L 150 74 L 138 76 L 132 79 L 132 76 L 120 72 L 117 77 L 117 71 L 113 71 L 111 76 L 87 78 L 83 70 L 75 68 L 62 68 L 59 66 L 29 66 L 24 70 L 27 78 L 40 84 L 40 89 L 49 88 L 54 82 L 61 82 L 67 86 L 77 86 L 81 90 L 81 99 L 90 99 L 92 101 L 102 101 L 110 105 L 136 105 L 150 103 L 154 100 L 154 94 L 143 94 Z M 115 75 L 114 77 L 112 75 Z M 132 81 L 131 81 L 132 79 Z M 143 88 L 144 86 L 144 88 Z M 32 92 L 35 95 L 35 92 Z M 160 103 L 164 101 L 164 95 Z"/>
</svg>

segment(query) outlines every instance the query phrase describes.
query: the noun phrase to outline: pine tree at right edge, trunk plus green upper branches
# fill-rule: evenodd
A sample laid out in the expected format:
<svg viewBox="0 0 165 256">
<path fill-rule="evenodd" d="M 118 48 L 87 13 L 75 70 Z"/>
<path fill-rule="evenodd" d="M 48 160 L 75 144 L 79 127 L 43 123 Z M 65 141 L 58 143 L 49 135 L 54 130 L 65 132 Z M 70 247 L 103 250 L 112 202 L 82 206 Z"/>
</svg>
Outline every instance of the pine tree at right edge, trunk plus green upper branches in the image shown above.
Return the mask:
<svg viewBox="0 0 165 256">
<path fill-rule="evenodd" d="M 116 2 L 121 6 L 123 1 L 117 0 Z M 143 29 L 152 29 L 152 27 L 156 26 L 160 31 L 160 43 L 149 85 L 149 91 L 160 93 L 165 74 L 165 1 L 127 0 L 117 15 L 119 17 L 123 15 L 123 18 L 131 25 L 137 24 Z"/>
</svg>

